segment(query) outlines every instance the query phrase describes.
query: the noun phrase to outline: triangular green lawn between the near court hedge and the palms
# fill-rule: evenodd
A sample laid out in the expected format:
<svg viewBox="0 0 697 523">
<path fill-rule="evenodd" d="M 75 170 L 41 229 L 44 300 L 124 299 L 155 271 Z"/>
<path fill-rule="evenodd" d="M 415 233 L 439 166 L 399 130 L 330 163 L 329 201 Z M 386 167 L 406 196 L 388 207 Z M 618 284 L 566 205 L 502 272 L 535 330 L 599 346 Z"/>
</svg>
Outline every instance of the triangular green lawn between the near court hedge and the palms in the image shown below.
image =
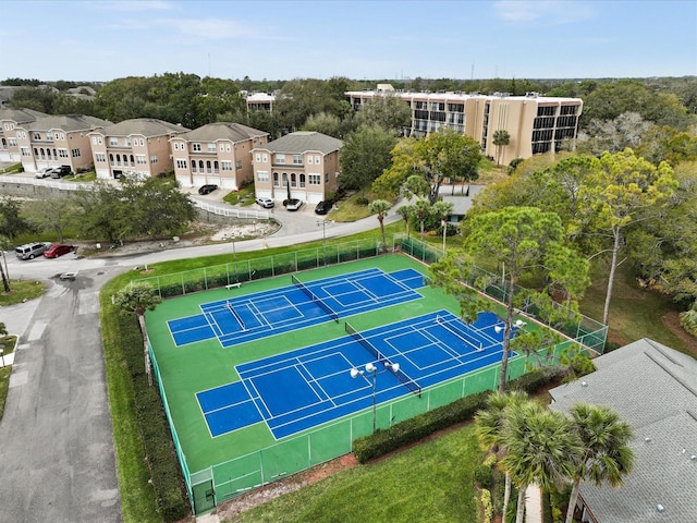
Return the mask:
<svg viewBox="0 0 697 523">
<path fill-rule="evenodd" d="M 341 471 L 235 521 L 476 522 L 473 470 L 482 460 L 474 424 L 468 424 L 375 463 Z"/>
</svg>

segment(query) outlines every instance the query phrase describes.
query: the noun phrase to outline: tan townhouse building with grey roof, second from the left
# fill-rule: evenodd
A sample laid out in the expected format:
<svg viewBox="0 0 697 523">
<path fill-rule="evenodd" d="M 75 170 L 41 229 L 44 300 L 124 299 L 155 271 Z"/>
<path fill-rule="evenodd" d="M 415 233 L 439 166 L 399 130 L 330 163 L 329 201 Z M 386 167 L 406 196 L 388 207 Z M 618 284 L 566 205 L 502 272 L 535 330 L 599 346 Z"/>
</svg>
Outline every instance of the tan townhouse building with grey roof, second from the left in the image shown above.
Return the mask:
<svg viewBox="0 0 697 523">
<path fill-rule="evenodd" d="M 15 127 L 22 167 L 36 172 L 45 167 L 70 166 L 73 172 L 93 163 L 89 134 L 110 122 L 84 114 L 39 118 Z"/>
</svg>

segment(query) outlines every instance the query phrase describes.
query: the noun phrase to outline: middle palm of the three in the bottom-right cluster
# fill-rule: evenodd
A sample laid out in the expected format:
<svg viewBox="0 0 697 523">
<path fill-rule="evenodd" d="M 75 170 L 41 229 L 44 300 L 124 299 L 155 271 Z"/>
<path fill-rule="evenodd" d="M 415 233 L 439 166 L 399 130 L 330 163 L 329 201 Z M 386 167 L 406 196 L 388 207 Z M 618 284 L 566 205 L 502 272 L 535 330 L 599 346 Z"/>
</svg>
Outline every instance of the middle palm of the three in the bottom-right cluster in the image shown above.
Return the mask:
<svg viewBox="0 0 697 523">
<path fill-rule="evenodd" d="M 571 421 L 561 412 L 550 411 L 536 401 L 505 410 L 504 470 L 518 487 L 516 523 L 523 523 L 528 485 L 543 490 L 571 477 L 583 447 Z"/>
</svg>

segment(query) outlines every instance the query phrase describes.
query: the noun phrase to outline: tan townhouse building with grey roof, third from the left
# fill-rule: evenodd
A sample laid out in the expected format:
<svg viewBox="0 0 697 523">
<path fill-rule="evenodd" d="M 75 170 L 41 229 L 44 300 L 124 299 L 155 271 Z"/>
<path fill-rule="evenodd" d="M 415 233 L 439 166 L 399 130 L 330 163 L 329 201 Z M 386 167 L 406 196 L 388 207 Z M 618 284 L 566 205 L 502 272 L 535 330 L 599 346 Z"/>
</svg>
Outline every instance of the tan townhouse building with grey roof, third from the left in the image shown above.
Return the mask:
<svg viewBox="0 0 697 523">
<path fill-rule="evenodd" d="M 146 179 L 172 169 L 170 138 L 186 127 L 154 118 L 136 118 L 89 133 L 98 179 Z"/>
</svg>

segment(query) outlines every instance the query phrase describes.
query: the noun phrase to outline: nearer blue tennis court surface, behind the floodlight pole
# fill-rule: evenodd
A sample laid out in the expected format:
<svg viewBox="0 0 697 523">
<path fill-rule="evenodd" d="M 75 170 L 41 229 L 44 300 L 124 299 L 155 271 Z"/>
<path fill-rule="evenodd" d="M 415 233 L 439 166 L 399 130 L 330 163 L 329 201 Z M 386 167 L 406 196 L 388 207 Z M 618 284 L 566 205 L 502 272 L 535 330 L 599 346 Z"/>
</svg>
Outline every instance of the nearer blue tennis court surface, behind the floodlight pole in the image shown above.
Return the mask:
<svg viewBox="0 0 697 523">
<path fill-rule="evenodd" d="M 439 311 L 360 332 L 360 341 L 345 336 L 237 365 L 240 381 L 196 398 L 213 437 L 265 422 L 280 439 L 370 406 L 372 377 L 352 378 L 352 368 L 378 367 L 376 398 L 382 403 L 499 363 L 501 325 L 493 313 L 465 324 Z M 387 370 L 386 363 L 398 363 L 400 372 Z"/>
</svg>

